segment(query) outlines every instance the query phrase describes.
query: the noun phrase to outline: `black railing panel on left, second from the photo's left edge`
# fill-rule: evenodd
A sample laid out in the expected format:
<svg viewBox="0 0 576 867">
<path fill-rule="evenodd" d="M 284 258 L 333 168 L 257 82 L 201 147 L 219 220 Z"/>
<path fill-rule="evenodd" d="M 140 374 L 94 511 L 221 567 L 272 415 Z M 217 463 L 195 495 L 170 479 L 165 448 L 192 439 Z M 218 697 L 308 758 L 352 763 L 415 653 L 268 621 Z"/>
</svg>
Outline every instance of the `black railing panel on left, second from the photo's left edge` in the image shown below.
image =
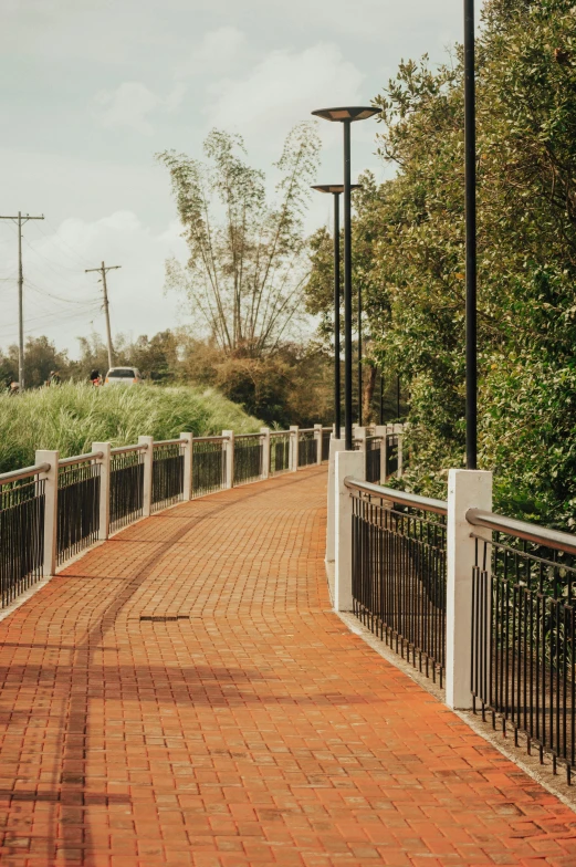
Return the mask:
<svg viewBox="0 0 576 867">
<path fill-rule="evenodd" d="M 84 458 L 81 462 L 81 459 Z M 95 459 L 66 459 L 57 474 L 57 563 L 94 544 L 100 530 L 101 464 Z"/>
</svg>

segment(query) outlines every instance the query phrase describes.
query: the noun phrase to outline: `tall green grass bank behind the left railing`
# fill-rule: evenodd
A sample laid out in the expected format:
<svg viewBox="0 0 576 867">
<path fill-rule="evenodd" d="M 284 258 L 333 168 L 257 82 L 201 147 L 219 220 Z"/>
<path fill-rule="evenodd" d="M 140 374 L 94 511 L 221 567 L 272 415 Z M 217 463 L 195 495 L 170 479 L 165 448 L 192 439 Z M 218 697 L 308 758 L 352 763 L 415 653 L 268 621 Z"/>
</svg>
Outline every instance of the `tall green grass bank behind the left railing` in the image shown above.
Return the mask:
<svg viewBox="0 0 576 867">
<path fill-rule="evenodd" d="M 0 395 L 0 472 L 34 462 L 35 449 L 59 449 L 61 457 L 90 451 L 92 442 L 126 446 L 140 435 L 172 439 L 230 428 L 243 433 L 261 422 L 213 389 L 179 386 L 94 388 L 61 386 Z"/>
</svg>

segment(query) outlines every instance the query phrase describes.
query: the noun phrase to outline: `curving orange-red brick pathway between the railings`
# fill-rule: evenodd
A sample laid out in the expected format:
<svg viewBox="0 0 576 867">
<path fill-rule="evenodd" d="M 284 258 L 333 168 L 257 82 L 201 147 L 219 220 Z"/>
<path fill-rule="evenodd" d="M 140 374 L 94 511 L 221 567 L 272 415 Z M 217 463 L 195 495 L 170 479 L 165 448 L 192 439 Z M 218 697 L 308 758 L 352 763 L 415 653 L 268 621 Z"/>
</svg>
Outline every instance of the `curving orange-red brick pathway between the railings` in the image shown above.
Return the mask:
<svg viewBox="0 0 576 867">
<path fill-rule="evenodd" d="M 572 811 L 329 612 L 325 479 L 136 524 L 0 624 L 2 867 L 576 865 Z"/>
</svg>

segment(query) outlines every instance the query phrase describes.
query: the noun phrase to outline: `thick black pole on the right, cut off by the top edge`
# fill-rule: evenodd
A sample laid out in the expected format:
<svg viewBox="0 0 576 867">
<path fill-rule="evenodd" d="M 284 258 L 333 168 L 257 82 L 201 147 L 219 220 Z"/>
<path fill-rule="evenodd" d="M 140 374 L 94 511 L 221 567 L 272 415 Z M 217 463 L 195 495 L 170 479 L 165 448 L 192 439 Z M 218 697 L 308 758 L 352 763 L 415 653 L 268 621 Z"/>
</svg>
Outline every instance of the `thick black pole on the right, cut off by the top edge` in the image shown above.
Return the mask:
<svg viewBox="0 0 576 867">
<path fill-rule="evenodd" d="M 474 0 L 464 0 L 464 153 L 465 153 L 465 279 L 467 279 L 467 469 L 478 467 L 476 368 L 476 118 Z"/>
</svg>

